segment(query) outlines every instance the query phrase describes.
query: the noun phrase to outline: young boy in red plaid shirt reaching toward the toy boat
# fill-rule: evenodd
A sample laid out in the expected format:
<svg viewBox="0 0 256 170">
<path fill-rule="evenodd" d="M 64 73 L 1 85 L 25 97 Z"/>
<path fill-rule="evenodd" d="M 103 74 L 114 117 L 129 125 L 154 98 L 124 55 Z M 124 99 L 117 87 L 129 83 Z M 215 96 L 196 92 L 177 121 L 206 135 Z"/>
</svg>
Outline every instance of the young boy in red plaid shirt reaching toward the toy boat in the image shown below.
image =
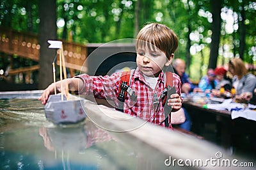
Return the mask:
<svg viewBox="0 0 256 170">
<path fill-rule="evenodd" d="M 164 122 L 164 104 L 161 100 L 161 93 L 165 88 L 164 70 L 170 66 L 174 57 L 174 52 L 178 47 L 178 39 L 173 31 L 163 24 L 148 24 L 143 27 L 136 38 L 136 70 L 131 73 L 130 88 L 134 91 L 136 98 L 129 94 L 125 97 L 124 112 L 131 116 L 138 116 L 143 120 L 150 121 L 155 125 L 172 128 L 170 116 L 168 123 Z M 89 76 L 87 74 L 78 75 L 72 79 L 63 80 L 68 88 L 78 91 L 79 94 L 93 95 L 95 98 L 111 100 L 118 107 L 119 88 L 121 86 L 120 77 L 122 73 L 113 73 L 111 76 Z M 167 77 L 167 79 L 170 77 Z M 168 102 L 175 111 L 182 105 L 180 98 L 180 79 L 173 73 L 173 86 L 177 93 L 172 94 Z M 65 93 L 65 86 L 61 89 L 60 81 L 55 83 L 58 91 Z M 38 98 L 42 104 L 47 102 L 50 94 L 54 92 L 54 84 L 44 90 L 42 96 Z"/>
</svg>

